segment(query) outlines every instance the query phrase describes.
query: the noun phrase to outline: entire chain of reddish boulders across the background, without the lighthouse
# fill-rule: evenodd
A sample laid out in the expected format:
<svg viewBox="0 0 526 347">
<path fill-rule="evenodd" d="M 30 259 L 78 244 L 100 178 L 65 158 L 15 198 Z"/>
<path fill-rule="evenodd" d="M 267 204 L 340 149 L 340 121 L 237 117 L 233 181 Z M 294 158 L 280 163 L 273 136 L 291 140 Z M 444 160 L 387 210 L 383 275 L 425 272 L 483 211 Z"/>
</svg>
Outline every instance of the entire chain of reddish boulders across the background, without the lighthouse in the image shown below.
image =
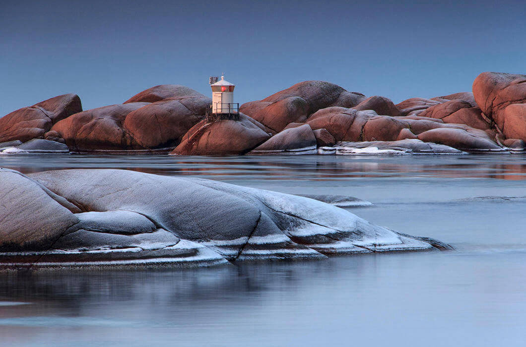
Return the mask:
<svg viewBox="0 0 526 347">
<path fill-rule="evenodd" d="M 208 121 L 211 99 L 155 86 L 122 104 L 83 110 L 74 94 L 0 118 L 0 152 L 462 154 L 521 152 L 526 76 L 486 72 L 472 92 L 398 104 L 325 81 L 304 81 Z"/>
</svg>

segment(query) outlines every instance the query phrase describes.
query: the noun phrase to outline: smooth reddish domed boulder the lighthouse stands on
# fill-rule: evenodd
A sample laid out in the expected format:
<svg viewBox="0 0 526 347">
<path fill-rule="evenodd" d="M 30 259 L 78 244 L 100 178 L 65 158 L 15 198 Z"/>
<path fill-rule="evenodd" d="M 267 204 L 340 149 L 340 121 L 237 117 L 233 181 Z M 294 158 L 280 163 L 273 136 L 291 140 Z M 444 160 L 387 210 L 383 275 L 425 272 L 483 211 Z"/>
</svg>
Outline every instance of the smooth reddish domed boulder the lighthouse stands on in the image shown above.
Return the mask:
<svg viewBox="0 0 526 347">
<path fill-rule="evenodd" d="M 183 136 L 170 152 L 174 155 L 237 155 L 259 146 L 270 138 L 265 127 L 239 114 L 239 120 L 200 121 Z"/>
</svg>

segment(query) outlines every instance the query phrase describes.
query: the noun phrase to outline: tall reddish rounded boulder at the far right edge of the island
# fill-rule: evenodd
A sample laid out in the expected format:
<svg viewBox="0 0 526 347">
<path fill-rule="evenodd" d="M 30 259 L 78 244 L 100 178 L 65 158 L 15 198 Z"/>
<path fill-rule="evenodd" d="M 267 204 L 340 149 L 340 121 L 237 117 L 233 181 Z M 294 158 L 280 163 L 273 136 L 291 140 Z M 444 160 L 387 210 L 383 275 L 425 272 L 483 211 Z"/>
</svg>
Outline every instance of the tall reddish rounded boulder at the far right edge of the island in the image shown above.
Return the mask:
<svg viewBox="0 0 526 347">
<path fill-rule="evenodd" d="M 526 75 L 482 73 L 473 82 L 473 95 L 505 137 L 526 140 L 523 107 L 511 106 L 526 104 Z"/>
</svg>

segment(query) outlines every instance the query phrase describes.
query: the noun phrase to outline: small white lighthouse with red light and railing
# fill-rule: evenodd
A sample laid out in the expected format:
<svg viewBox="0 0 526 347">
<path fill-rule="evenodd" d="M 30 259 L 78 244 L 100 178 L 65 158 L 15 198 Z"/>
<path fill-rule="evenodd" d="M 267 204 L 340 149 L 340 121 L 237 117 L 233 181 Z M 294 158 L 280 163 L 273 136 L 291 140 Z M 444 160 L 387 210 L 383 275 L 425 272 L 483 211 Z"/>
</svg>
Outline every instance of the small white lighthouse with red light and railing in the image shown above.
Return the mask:
<svg viewBox="0 0 526 347">
<path fill-rule="evenodd" d="M 234 103 L 235 84 L 230 83 L 221 76 L 210 77 L 210 87 L 212 88 L 212 108 L 211 114 L 207 116 L 209 121 L 221 119 L 239 119 L 239 104 Z"/>
</svg>

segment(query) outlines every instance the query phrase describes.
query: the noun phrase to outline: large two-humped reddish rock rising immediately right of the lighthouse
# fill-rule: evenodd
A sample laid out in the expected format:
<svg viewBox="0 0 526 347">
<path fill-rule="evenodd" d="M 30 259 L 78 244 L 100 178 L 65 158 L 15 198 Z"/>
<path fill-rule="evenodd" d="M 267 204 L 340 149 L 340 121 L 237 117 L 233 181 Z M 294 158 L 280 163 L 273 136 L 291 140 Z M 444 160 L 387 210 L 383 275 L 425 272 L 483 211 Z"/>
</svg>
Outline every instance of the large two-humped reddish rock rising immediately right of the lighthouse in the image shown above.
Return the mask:
<svg viewBox="0 0 526 347">
<path fill-rule="evenodd" d="M 321 108 L 352 107 L 363 99 L 363 94 L 350 93 L 335 84 L 315 80 L 301 82 L 265 99 L 243 104 L 240 111 L 276 133 L 289 123 L 305 121 Z"/>
</svg>

